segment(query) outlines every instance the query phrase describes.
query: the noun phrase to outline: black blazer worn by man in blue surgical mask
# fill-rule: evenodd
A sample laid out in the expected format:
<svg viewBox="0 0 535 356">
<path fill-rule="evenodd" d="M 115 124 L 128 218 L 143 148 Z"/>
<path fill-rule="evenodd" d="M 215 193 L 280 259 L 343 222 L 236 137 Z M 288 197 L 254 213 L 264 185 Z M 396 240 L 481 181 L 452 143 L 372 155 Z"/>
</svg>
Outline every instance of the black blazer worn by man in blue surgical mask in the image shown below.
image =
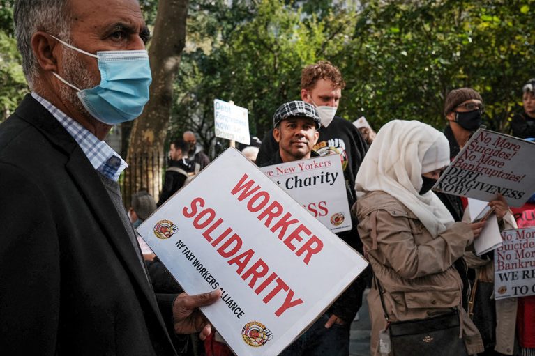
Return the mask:
<svg viewBox="0 0 535 356">
<path fill-rule="evenodd" d="M 174 295 L 157 301 L 136 253 L 80 146 L 27 95 L 0 125 L 0 354 L 175 355 Z"/>
</svg>

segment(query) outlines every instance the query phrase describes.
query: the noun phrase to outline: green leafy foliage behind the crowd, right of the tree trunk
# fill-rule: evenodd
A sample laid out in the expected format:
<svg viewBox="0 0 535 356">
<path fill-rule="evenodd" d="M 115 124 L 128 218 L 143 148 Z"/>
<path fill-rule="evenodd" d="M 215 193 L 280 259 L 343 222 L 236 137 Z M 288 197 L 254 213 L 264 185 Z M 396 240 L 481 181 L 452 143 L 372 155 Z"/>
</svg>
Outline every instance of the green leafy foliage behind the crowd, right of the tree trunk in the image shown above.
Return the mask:
<svg viewBox="0 0 535 356">
<path fill-rule="evenodd" d="M 213 139 L 213 99 L 249 109 L 263 137 L 273 111 L 299 99 L 301 69 L 329 60 L 347 87 L 338 114 L 442 129 L 453 88 L 479 91 L 487 125 L 507 130 L 533 72 L 534 1 L 194 2 L 171 134 Z"/>
</svg>

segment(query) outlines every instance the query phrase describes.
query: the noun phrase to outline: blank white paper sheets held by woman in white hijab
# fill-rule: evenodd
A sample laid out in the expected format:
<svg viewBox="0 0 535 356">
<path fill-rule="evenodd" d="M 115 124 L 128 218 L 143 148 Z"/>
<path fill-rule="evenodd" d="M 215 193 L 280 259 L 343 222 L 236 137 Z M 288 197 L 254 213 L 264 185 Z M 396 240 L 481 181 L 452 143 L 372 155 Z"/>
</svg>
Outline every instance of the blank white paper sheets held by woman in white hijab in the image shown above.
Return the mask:
<svg viewBox="0 0 535 356">
<path fill-rule="evenodd" d="M 486 212 L 488 209 L 488 203 L 477 199 L 468 198 L 468 210 L 472 222 L 479 220 L 481 212 Z M 483 214 L 486 215 L 486 214 Z M 486 254 L 488 251 L 497 249 L 503 243 L 502 235 L 499 232 L 498 219 L 495 214 L 490 214 L 486 217 L 486 223 L 481 229 L 478 238 L 474 240 L 474 250 L 478 256 Z"/>
</svg>

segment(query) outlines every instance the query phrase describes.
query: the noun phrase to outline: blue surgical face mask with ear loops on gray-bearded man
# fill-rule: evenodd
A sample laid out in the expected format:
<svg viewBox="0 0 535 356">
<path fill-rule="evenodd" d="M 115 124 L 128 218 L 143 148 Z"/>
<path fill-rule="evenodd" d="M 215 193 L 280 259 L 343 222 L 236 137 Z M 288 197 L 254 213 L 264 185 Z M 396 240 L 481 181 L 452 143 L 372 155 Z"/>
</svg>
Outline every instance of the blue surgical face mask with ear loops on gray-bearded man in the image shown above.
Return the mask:
<svg viewBox="0 0 535 356">
<path fill-rule="evenodd" d="M 149 86 L 152 82 L 146 50 L 100 51 L 95 55 L 54 36 L 52 38 L 70 49 L 98 59 L 100 84 L 94 88 L 79 89 L 52 72 L 61 82 L 78 92 L 78 98 L 89 114 L 108 125 L 131 121 L 141 115 L 149 101 Z"/>
</svg>

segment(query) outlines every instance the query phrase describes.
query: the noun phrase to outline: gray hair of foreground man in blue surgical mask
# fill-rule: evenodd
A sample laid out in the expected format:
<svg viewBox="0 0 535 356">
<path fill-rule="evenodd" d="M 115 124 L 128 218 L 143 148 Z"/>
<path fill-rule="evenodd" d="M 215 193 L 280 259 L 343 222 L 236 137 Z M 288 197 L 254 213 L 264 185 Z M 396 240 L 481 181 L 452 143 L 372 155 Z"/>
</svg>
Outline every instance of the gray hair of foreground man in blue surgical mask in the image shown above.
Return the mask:
<svg viewBox="0 0 535 356">
<path fill-rule="evenodd" d="M 68 0 L 17 0 L 13 9 L 15 38 L 22 55 L 22 70 L 30 88 L 39 76 L 36 56 L 31 49 L 31 36 L 43 31 L 70 42 Z"/>
</svg>

